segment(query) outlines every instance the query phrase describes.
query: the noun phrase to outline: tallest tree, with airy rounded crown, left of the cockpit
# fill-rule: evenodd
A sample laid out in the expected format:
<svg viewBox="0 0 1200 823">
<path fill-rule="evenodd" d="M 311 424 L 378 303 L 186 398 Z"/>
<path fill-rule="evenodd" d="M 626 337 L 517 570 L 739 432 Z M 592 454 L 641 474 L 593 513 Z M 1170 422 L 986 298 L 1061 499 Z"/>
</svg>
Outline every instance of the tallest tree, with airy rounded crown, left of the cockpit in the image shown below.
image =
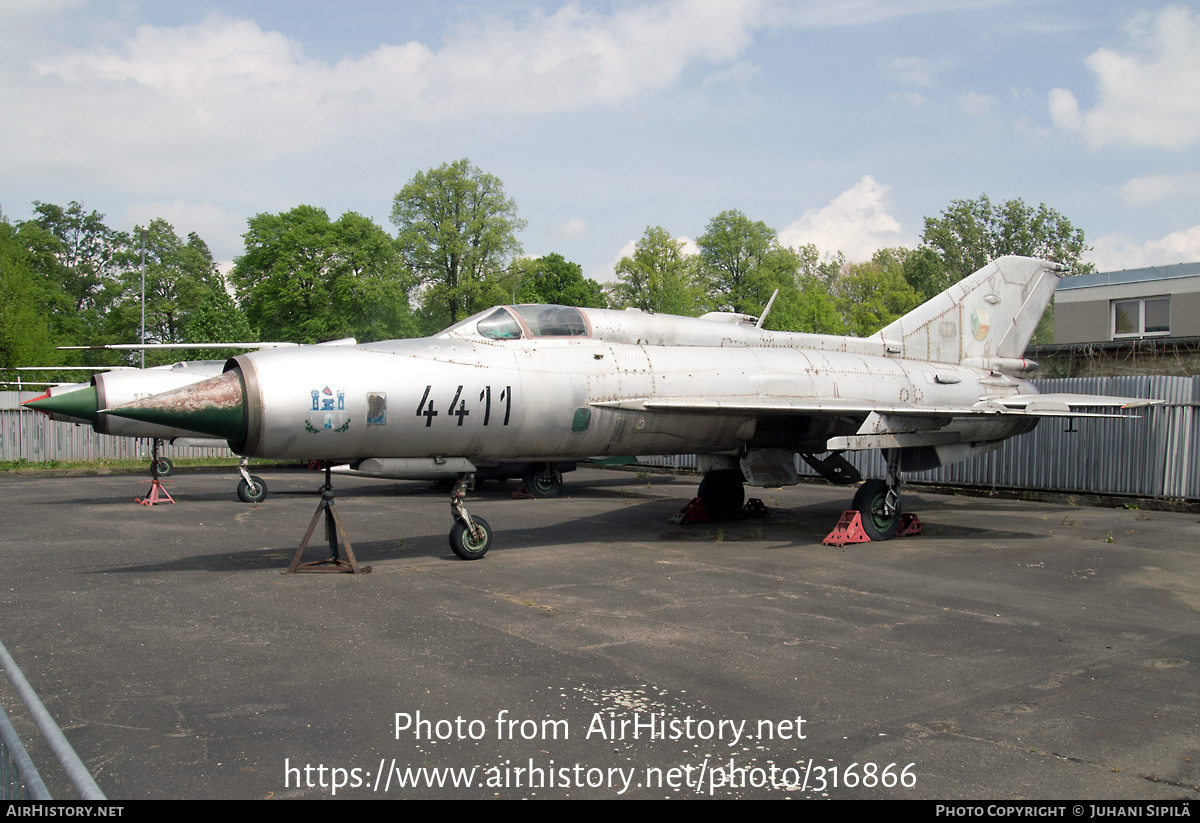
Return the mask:
<svg viewBox="0 0 1200 823">
<path fill-rule="evenodd" d="M 424 316 L 444 312 L 451 324 L 494 305 L 497 280 L 521 253 L 516 235 L 526 227 L 499 178 L 467 158 L 419 172 L 396 194 L 391 222 Z"/>
</svg>

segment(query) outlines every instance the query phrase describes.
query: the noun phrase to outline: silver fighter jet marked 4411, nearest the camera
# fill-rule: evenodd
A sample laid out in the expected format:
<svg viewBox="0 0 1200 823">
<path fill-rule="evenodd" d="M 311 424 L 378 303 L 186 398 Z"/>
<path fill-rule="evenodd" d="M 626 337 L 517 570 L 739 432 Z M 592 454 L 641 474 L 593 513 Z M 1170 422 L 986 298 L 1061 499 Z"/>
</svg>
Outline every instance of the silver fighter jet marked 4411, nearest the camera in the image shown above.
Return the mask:
<svg viewBox="0 0 1200 823">
<path fill-rule="evenodd" d="M 767 331 L 701 318 L 568 306 L 488 308 L 433 337 L 238 355 L 224 372 L 108 414 L 187 428 L 238 453 L 455 465 L 451 548 L 482 557 L 492 530 L 464 505 L 476 464 L 697 453 L 710 515 L 744 483 L 798 481 L 796 455 L 834 482 L 842 452 L 881 449 L 886 476 L 852 507 L 895 534 L 900 480 L 998 447 L 1044 416 L 1152 401 L 1039 395 L 1025 347 L 1066 269 L 1002 257 L 865 337 Z"/>
</svg>

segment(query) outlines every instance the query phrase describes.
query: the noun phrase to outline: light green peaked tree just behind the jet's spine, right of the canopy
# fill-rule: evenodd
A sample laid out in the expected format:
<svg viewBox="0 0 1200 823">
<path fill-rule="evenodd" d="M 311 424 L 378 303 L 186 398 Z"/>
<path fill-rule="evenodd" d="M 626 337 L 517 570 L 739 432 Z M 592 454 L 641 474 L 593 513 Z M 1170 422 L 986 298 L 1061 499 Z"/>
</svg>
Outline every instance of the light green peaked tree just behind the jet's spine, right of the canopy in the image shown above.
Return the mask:
<svg viewBox="0 0 1200 823">
<path fill-rule="evenodd" d="M 661 226 L 646 227 L 632 257 L 620 258 L 616 271 L 617 282 L 608 286 L 608 300 L 617 308 L 688 317 L 698 317 L 704 311 L 694 258 L 684 254 L 683 241 Z"/>
</svg>

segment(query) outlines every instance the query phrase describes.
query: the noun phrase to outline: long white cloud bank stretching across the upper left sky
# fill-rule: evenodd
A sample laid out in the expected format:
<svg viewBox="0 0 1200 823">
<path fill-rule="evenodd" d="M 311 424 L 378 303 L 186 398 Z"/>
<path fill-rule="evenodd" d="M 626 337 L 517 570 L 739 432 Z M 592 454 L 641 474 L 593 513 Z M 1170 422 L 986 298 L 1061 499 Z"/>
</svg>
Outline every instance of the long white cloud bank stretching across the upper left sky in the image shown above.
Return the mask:
<svg viewBox="0 0 1200 823">
<path fill-rule="evenodd" d="M 0 152 L 31 180 L 70 174 L 143 191 L 427 124 L 576 110 L 668 89 L 696 64 L 738 60 L 766 0 L 666 0 L 611 13 L 568 4 L 520 19 L 469 18 L 439 50 L 384 43 L 337 62 L 293 38 L 210 13 L 138 26 L 32 65 L 8 62 Z M 752 73 L 734 64 L 731 79 Z"/>
</svg>

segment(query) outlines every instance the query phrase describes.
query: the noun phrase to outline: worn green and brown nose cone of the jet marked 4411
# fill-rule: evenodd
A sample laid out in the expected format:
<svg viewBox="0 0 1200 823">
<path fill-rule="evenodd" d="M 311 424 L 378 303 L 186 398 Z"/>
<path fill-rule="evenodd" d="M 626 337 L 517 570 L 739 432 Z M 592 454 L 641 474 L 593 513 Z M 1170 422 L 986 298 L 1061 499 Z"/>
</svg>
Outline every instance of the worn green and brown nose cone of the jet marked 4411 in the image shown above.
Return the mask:
<svg viewBox="0 0 1200 823">
<path fill-rule="evenodd" d="M 246 439 L 245 394 L 241 373 L 232 371 L 182 389 L 104 409 L 104 413 L 242 443 Z"/>
</svg>

